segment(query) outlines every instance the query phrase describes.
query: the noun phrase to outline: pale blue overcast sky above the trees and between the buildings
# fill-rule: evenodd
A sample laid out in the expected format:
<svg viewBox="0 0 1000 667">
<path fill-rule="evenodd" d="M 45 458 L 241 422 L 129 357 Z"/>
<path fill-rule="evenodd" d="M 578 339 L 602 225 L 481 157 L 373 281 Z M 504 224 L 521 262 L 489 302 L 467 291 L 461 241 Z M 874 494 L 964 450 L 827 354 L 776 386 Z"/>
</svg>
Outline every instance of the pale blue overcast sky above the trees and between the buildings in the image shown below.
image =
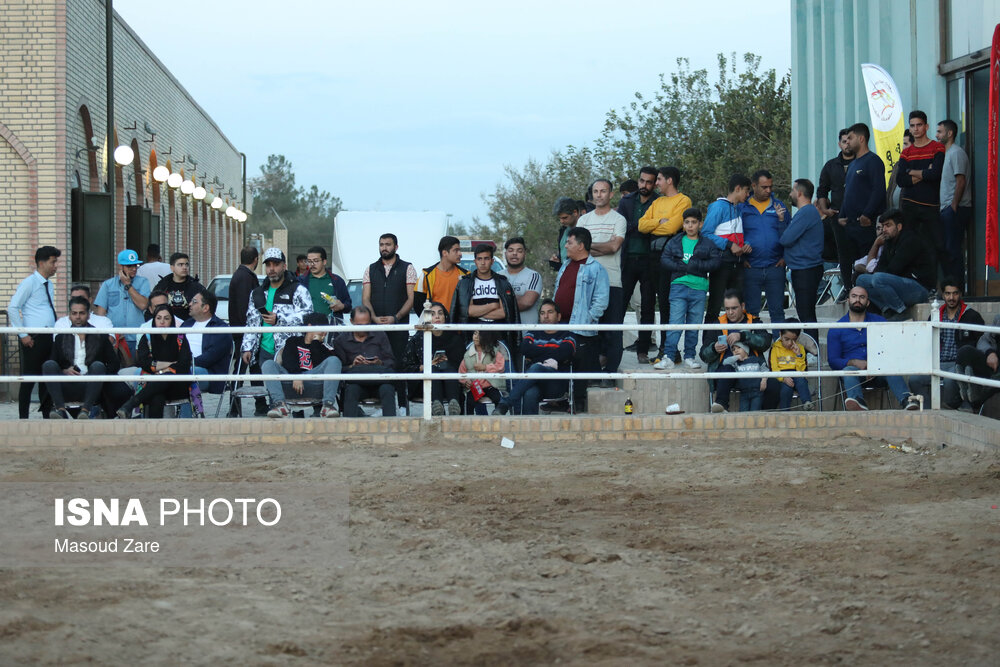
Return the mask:
<svg viewBox="0 0 1000 667">
<path fill-rule="evenodd" d="M 482 6 L 479 6 L 479 5 Z M 119 0 L 115 9 L 247 154 L 352 210 L 485 218 L 506 164 L 596 139 L 678 57 L 791 63 L 786 2 Z"/>
</svg>

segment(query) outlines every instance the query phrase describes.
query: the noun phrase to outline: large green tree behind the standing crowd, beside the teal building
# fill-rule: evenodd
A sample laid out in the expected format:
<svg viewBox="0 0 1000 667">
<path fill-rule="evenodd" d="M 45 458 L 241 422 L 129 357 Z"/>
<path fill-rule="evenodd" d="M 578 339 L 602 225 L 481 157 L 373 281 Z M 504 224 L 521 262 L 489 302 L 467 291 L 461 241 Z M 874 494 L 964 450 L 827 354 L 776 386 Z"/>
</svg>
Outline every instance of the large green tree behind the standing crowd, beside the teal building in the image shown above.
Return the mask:
<svg viewBox="0 0 1000 667">
<path fill-rule="evenodd" d="M 489 219 L 474 221 L 474 235 L 525 237 L 529 264 L 551 287 L 547 260 L 554 250 L 558 223 L 552 205 L 561 196 L 582 198 L 595 178 L 620 183 L 635 178 L 643 165 L 674 165 L 681 170 L 681 191 L 703 210 L 725 196 L 733 173 L 757 169 L 774 174 L 776 192 L 791 185 L 791 75 L 761 70 L 760 58 L 718 56 L 714 80 L 692 70 L 685 58 L 677 71 L 660 75 L 650 97 L 635 94 L 627 106 L 607 114 L 593 148 L 567 146 L 547 161 L 529 159 L 518 169 L 505 167 L 505 180 L 487 195 Z"/>
</svg>

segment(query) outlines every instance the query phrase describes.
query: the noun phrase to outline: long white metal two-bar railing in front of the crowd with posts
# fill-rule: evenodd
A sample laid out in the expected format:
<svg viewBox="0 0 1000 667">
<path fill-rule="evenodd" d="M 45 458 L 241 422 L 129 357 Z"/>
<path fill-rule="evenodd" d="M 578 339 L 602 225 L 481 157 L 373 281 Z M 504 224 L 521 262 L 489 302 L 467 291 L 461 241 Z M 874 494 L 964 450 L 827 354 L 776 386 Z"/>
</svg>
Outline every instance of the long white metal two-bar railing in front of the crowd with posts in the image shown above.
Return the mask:
<svg viewBox="0 0 1000 667">
<path fill-rule="evenodd" d="M 932 317 L 937 315 L 937 311 L 932 312 Z M 496 332 L 506 332 L 506 331 L 593 331 L 595 334 L 601 331 L 717 331 L 722 328 L 726 328 L 727 325 L 723 325 L 717 322 L 707 323 L 707 324 L 388 324 L 388 325 L 378 325 L 378 324 L 368 324 L 364 326 L 355 325 L 326 325 L 320 327 L 309 327 L 309 331 L 322 331 L 322 332 L 334 332 L 334 333 L 348 333 L 353 331 L 382 331 L 382 332 L 392 332 L 392 331 L 420 331 L 424 337 L 423 341 L 423 371 L 416 373 L 404 373 L 404 372 L 392 372 L 392 373 L 365 373 L 364 381 L 402 381 L 402 380 L 420 380 L 423 383 L 422 393 L 424 398 L 424 405 L 430 405 L 431 397 L 431 382 L 434 380 L 474 380 L 474 379 L 502 379 L 502 380 L 520 380 L 520 379 L 537 379 L 537 380 L 622 380 L 622 379 L 671 379 L 671 378 L 683 378 L 683 379 L 697 379 L 703 378 L 706 380 L 711 379 L 722 379 L 722 378 L 742 378 L 746 379 L 749 377 L 754 378 L 777 378 L 786 377 L 790 373 L 788 371 L 770 371 L 770 372 L 755 372 L 755 373 L 741 373 L 737 371 L 732 372 L 721 372 L 721 371 L 676 371 L 676 372 L 650 372 L 650 371 L 619 371 L 616 373 L 561 373 L 561 372 L 547 372 L 547 373 L 440 373 L 434 372 L 432 370 L 432 360 L 433 360 L 433 332 L 435 330 L 440 331 L 481 331 L 481 330 L 492 330 Z M 736 324 L 731 325 L 729 328 L 739 329 L 739 330 L 772 330 L 776 328 L 781 328 L 782 324 L 771 324 L 765 322 L 759 322 L 756 324 Z M 936 320 L 928 320 L 921 322 L 905 321 L 905 322 L 816 322 L 816 323 L 801 323 L 796 322 L 791 324 L 796 329 L 876 329 L 878 327 L 885 327 L 886 329 L 892 328 L 894 331 L 899 330 L 902 327 L 903 331 L 923 331 L 929 334 L 931 349 L 928 350 L 930 354 L 928 355 L 916 355 L 909 358 L 909 366 L 906 366 L 903 370 L 899 370 L 899 367 L 893 364 L 880 365 L 878 363 L 872 364 L 872 360 L 869 359 L 869 368 L 863 371 L 845 371 L 845 370 L 829 370 L 829 371 L 802 371 L 796 372 L 795 377 L 806 377 L 806 378 L 826 378 L 826 377 L 871 377 L 871 376 L 888 376 L 888 375 L 927 375 L 933 378 L 947 378 L 954 380 L 961 380 L 963 382 L 971 382 L 973 384 L 996 387 L 1000 388 L 1000 381 L 990 380 L 986 378 L 978 378 L 974 376 L 965 376 L 956 373 L 950 373 L 941 370 L 940 367 L 940 354 L 939 354 L 939 344 L 940 337 L 936 335 L 939 329 L 962 329 L 968 331 L 976 332 L 1000 332 L 997 327 L 990 326 L 979 326 L 979 325 L 960 325 L 950 322 L 938 322 Z M 211 331 L 208 329 L 197 329 L 193 330 L 190 327 L 164 327 L 157 328 L 155 331 L 151 330 L 149 327 L 114 327 L 114 328 L 101 328 L 96 327 L 86 327 L 82 330 L 73 329 L 52 329 L 43 327 L 0 327 L 0 334 L 32 334 L 32 333 L 48 333 L 48 334 L 60 334 L 60 333 L 77 333 L 77 334 L 135 334 L 145 335 L 152 333 L 183 333 L 183 334 L 235 334 L 235 333 L 292 333 L 300 334 L 305 331 L 302 326 L 290 326 L 290 327 L 212 327 Z M 819 341 L 817 341 L 817 345 Z M 818 349 L 817 352 L 822 354 L 822 350 Z M 401 360 L 397 360 L 397 363 Z M 180 375 L 180 374 L 167 374 L 167 375 L 143 375 L 142 381 L 147 382 L 194 382 L 194 381 L 211 381 L 211 380 L 225 380 L 225 381 L 238 381 L 238 380 L 253 380 L 253 381 L 264 381 L 264 380 L 279 380 L 283 382 L 295 379 L 294 376 L 289 374 L 254 374 L 249 376 L 247 374 L 237 374 L 237 373 L 216 373 L 216 374 L 204 374 L 204 375 Z M 304 378 L 303 378 L 304 379 Z M 321 382 L 324 380 L 339 380 L 339 381 L 349 381 L 349 380 L 360 380 L 358 373 L 315 373 L 310 374 L 307 382 Z M 6 375 L 0 376 L 0 382 L 53 382 L 53 376 L 51 375 Z M 58 382 L 134 382 L 135 380 L 122 375 L 62 375 L 59 376 Z M 931 407 L 933 409 L 940 409 L 941 405 L 940 399 L 940 383 L 931 382 Z M 430 410 L 424 409 L 424 419 L 431 419 Z"/>
</svg>

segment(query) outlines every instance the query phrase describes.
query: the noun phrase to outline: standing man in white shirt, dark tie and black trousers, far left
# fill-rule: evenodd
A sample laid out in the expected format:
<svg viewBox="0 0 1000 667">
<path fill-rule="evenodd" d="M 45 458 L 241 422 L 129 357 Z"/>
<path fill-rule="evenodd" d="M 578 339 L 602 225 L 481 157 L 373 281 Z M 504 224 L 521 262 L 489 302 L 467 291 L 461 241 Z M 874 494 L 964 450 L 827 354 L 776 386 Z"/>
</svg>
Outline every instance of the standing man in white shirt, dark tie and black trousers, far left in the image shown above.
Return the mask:
<svg viewBox="0 0 1000 667">
<path fill-rule="evenodd" d="M 62 251 L 46 245 L 35 251 L 35 271 L 21 281 L 10 298 L 7 317 L 13 327 L 53 327 L 56 323 L 56 290 L 52 276 L 56 274 Z M 18 334 L 21 351 L 21 373 L 41 375 L 42 364 L 52 353 L 52 334 Z M 31 411 L 31 391 L 34 383 L 22 382 L 17 392 L 17 413 L 27 419 Z M 44 384 L 38 387 L 42 417 L 49 418 L 52 402 Z"/>
</svg>

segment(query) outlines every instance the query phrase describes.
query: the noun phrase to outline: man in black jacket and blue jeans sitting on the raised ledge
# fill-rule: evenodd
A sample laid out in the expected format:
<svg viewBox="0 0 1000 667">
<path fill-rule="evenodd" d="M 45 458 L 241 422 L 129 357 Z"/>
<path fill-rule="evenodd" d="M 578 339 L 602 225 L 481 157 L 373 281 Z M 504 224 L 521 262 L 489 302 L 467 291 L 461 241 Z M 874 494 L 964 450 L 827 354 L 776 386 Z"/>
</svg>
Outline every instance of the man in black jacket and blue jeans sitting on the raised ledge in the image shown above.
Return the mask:
<svg viewBox="0 0 1000 667">
<path fill-rule="evenodd" d="M 875 273 L 859 276 L 857 284 L 887 320 L 898 321 L 907 308 L 927 301 L 937 277 L 924 241 L 903 226 L 903 212 L 890 209 L 880 220 L 886 237 L 882 256 Z"/>
</svg>

